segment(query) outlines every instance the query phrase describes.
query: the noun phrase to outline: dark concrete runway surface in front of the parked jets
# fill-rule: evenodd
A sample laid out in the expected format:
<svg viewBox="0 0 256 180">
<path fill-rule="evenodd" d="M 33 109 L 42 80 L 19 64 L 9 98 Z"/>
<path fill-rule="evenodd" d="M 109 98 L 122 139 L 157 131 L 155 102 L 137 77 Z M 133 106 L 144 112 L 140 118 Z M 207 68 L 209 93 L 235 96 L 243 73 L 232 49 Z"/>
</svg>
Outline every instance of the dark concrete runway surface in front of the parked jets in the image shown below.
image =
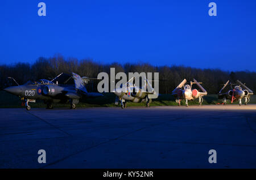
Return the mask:
<svg viewBox="0 0 256 180">
<path fill-rule="evenodd" d="M 0 115 L 0 168 L 256 168 L 256 105 L 6 108 Z M 46 164 L 38 163 L 39 149 Z"/>
</svg>

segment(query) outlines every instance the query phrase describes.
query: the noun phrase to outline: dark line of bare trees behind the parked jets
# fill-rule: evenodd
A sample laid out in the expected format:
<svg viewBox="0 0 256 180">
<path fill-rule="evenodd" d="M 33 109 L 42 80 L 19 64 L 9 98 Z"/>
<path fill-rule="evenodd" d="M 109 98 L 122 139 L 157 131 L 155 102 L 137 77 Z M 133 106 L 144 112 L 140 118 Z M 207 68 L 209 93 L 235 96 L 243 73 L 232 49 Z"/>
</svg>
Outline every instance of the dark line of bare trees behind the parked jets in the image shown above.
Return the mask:
<svg viewBox="0 0 256 180">
<path fill-rule="evenodd" d="M 102 64 L 92 59 L 64 58 L 56 55 L 50 58 L 40 57 L 34 63 L 15 63 L 14 65 L 0 65 L 0 89 L 10 85 L 7 77 L 12 77 L 19 84 L 28 80 L 53 79 L 61 72 L 71 74 L 75 72 L 80 76 L 97 78 L 98 73 L 107 72 L 110 75 L 110 67 L 115 67 L 115 73 L 125 72 L 159 72 L 159 93 L 171 93 L 175 87 L 185 78 L 188 83 L 195 78 L 203 82 L 203 87 L 208 94 L 216 94 L 227 80 L 235 82 L 239 79 L 242 83 L 255 92 L 256 72 L 236 71 L 229 72 L 212 68 L 192 68 L 186 66 L 152 66 L 149 63 L 125 63 L 114 62 Z M 154 84 L 154 83 L 153 83 Z M 96 91 L 97 82 L 88 84 L 89 91 Z"/>
</svg>

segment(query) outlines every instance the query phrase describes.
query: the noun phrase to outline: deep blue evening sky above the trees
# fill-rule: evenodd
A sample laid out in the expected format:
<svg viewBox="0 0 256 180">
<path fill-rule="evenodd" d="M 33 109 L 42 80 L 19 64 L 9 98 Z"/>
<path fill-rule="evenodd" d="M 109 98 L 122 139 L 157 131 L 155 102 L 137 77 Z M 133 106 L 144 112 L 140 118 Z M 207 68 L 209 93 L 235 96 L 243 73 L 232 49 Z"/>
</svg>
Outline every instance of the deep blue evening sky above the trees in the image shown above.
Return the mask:
<svg viewBox="0 0 256 180">
<path fill-rule="evenodd" d="M 217 16 L 208 15 L 209 2 Z M 1 1 L 0 22 L 1 64 L 60 53 L 256 71 L 256 1 Z"/>
</svg>

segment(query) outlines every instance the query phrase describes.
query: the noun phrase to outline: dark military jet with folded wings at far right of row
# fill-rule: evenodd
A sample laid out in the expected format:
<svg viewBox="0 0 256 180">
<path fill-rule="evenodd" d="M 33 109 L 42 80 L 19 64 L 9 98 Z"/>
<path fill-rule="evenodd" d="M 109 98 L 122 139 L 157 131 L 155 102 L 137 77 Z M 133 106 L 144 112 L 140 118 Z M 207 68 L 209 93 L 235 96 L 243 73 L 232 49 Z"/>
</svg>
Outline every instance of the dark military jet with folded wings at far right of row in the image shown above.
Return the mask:
<svg viewBox="0 0 256 180">
<path fill-rule="evenodd" d="M 228 84 L 230 84 L 229 91 L 222 93 L 222 90 Z M 236 86 L 233 88 L 232 85 L 236 85 Z M 218 92 L 218 98 L 219 99 L 222 98 L 222 102 L 224 105 L 226 105 L 226 99 L 229 99 L 231 100 L 231 103 L 233 103 L 233 101 L 239 101 L 239 105 L 241 106 L 242 98 L 245 98 L 245 105 L 247 105 L 247 103 L 250 101 L 251 95 L 253 95 L 253 91 L 247 88 L 246 85 L 242 84 L 239 80 L 237 80 L 237 84 L 229 83 L 229 80 L 228 80 L 228 82 L 224 84 L 224 87 L 221 88 L 220 92 Z"/>
</svg>

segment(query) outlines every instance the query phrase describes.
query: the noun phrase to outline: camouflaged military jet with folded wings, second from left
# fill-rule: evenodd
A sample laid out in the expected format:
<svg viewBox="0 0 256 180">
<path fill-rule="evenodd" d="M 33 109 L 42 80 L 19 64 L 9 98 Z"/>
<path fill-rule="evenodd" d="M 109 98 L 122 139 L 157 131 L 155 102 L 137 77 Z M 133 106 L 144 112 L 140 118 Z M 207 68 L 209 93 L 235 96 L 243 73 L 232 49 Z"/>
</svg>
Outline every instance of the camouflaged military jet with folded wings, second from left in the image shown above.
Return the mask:
<svg viewBox="0 0 256 180">
<path fill-rule="evenodd" d="M 121 108 L 126 108 L 127 100 L 131 102 L 146 102 L 146 107 L 149 108 L 152 98 L 158 98 L 158 93 L 152 88 L 152 85 L 144 76 L 142 76 L 144 88 L 135 86 L 133 84 L 134 79 L 135 77 L 131 78 L 126 84 L 121 84 L 120 88 L 114 89 L 113 92 L 117 95 L 115 98 L 115 105 L 118 105 L 120 102 Z M 147 91 L 144 89 L 147 89 Z"/>
</svg>

